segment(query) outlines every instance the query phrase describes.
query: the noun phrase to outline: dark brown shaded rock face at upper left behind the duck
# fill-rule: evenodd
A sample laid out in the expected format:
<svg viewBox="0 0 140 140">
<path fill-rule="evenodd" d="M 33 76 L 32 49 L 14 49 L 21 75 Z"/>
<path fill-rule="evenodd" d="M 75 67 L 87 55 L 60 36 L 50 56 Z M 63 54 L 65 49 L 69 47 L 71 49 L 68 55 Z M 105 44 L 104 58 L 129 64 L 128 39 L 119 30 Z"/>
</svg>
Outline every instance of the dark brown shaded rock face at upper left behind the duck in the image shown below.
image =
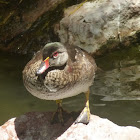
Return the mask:
<svg viewBox="0 0 140 140">
<path fill-rule="evenodd" d="M 33 53 L 47 42 L 58 41 L 54 24 L 64 8 L 82 0 L 0 1 L 0 50 Z"/>
</svg>

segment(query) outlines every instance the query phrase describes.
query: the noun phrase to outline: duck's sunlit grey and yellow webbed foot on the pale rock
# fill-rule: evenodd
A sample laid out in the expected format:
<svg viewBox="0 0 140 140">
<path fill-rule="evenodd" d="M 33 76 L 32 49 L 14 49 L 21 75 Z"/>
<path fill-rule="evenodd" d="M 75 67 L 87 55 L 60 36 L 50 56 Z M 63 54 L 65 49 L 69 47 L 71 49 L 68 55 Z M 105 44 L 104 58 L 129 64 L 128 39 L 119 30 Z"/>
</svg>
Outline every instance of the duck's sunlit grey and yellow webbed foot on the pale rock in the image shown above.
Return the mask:
<svg viewBox="0 0 140 140">
<path fill-rule="evenodd" d="M 78 118 L 76 119 L 75 124 L 77 123 L 88 124 L 89 120 L 90 120 L 90 110 L 88 107 L 85 107 L 78 116 Z"/>
</svg>

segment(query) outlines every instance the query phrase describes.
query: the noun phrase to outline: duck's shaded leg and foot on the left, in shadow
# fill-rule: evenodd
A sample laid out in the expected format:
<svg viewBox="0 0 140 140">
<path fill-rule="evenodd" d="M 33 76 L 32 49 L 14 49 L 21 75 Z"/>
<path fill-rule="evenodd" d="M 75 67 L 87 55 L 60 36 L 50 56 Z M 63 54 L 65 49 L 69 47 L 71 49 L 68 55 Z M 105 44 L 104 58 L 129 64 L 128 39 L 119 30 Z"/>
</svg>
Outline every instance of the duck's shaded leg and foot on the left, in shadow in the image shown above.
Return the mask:
<svg viewBox="0 0 140 140">
<path fill-rule="evenodd" d="M 57 110 L 56 112 L 53 114 L 52 117 L 52 123 L 56 123 L 56 122 L 60 122 L 61 124 L 64 124 L 64 120 L 63 120 L 63 108 L 62 108 L 62 100 L 56 100 L 56 104 L 57 104 Z"/>
</svg>

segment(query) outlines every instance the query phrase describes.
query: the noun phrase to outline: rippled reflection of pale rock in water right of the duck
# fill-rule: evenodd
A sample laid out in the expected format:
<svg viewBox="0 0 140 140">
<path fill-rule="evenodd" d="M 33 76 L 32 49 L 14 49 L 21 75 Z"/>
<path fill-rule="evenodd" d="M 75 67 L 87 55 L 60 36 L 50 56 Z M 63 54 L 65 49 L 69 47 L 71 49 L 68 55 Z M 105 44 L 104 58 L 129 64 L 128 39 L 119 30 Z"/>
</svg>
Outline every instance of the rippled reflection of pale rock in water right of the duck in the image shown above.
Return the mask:
<svg viewBox="0 0 140 140">
<path fill-rule="evenodd" d="M 102 100 L 140 100 L 140 51 L 116 51 L 96 60 L 103 70 L 96 75 L 93 91 Z"/>
</svg>

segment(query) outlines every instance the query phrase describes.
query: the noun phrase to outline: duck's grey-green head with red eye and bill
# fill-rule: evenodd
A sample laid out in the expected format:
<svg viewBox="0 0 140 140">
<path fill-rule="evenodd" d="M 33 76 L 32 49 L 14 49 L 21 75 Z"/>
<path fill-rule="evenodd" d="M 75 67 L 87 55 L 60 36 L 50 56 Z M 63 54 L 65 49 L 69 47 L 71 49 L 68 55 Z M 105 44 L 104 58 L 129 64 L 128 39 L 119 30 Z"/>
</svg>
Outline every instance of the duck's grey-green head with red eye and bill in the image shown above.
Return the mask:
<svg viewBox="0 0 140 140">
<path fill-rule="evenodd" d="M 68 60 L 67 49 L 59 42 L 46 44 L 42 56 L 43 60 L 37 70 L 37 75 L 44 73 L 49 67 L 61 67 Z"/>
</svg>

